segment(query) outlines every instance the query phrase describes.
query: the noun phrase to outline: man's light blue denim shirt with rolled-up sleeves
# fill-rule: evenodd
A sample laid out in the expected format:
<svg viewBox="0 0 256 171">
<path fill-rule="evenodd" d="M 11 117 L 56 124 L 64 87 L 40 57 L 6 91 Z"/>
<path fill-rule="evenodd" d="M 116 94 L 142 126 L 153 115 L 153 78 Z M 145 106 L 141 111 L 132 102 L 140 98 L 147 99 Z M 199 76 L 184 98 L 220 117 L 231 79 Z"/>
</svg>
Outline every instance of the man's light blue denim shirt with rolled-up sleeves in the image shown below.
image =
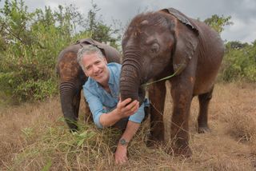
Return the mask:
<svg viewBox="0 0 256 171">
<path fill-rule="evenodd" d="M 98 128 L 102 128 L 102 125 L 99 122 L 99 117 L 102 113 L 110 113 L 116 108 L 119 101 L 119 78 L 122 66 L 113 62 L 108 63 L 107 67 L 110 71 L 108 84 L 111 93 L 106 92 L 106 90 L 92 78 L 88 78 L 85 85 L 82 86 L 83 94 L 86 97 L 90 111 L 93 114 L 94 123 Z M 138 111 L 129 117 L 129 121 L 141 123 L 144 117 L 144 103 L 142 103 Z"/>
</svg>

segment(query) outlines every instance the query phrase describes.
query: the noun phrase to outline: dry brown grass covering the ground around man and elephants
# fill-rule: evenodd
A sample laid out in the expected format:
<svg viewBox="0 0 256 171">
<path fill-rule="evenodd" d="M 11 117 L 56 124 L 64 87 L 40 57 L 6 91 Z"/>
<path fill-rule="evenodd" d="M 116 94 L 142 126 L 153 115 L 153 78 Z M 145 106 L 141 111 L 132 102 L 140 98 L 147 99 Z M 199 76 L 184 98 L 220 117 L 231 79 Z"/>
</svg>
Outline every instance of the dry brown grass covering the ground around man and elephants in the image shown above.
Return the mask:
<svg viewBox="0 0 256 171">
<path fill-rule="evenodd" d="M 146 147 L 146 121 L 131 142 L 129 163 L 122 166 L 114 165 L 113 157 L 120 132 L 99 131 L 81 117 L 82 130 L 69 133 L 58 97 L 1 107 L 0 170 L 256 170 L 255 100 L 255 84 L 218 84 L 210 103 L 211 133 L 196 133 L 198 100 L 192 101 L 192 157 L 170 156 L 163 146 Z M 167 101 L 166 111 L 170 110 Z M 81 116 L 83 111 L 82 103 Z M 170 114 L 164 117 L 168 121 Z"/>
</svg>

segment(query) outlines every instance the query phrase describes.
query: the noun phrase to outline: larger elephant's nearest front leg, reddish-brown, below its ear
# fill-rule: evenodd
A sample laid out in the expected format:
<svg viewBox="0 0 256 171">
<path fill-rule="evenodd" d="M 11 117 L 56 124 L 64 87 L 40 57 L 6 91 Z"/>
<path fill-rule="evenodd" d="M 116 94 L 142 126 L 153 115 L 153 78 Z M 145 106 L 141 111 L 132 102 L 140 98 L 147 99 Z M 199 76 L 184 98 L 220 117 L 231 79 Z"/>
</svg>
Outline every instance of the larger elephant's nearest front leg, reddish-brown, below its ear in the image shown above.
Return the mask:
<svg viewBox="0 0 256 171">
<path fill-rule="evenodd" d="M 192 154 L 189 147 L 189 115 L 193 87 L 191 82 L 175 80 L 170 90 L 174 108 L 170 126 L 172 149 L 169 152 L 185 157 Z"/>
</svg>

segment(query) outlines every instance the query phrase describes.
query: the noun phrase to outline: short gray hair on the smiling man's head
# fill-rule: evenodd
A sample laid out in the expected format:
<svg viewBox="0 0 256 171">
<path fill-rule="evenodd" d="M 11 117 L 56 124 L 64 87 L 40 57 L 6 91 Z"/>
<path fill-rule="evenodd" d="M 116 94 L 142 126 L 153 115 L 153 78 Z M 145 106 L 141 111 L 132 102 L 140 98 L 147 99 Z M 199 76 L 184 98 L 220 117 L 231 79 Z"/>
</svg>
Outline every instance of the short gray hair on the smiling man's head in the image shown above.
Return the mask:
<svg viewBox="0 0 256 171">
<path fill-rule="evenodd" d="M 93 46 L 93 45 L 86 45 L 86 46 L 82 46 L 81 49 L 78 50 L 78 64 L 79 66 L 82 67 L 82 70 L 85 71 L 84 66 L 82 65 L 82 58 L 86 55 L 86 54 L 98 54 L 99 58 L 105 58 L 105 56 L 102 54 L 102 50 L 98 49 L 97 46 Z"/>
</svg>

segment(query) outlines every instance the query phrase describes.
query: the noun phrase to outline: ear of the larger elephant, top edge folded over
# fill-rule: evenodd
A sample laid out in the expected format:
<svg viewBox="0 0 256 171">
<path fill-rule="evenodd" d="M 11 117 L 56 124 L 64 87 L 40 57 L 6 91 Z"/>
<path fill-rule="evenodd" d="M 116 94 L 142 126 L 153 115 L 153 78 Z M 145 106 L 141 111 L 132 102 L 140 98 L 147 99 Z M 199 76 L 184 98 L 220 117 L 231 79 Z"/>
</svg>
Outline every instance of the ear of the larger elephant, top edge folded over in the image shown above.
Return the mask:
<svg viewBox="0 0 256 171">
<path fill-rule="evenodd" d="M 174 72 L 181 74 L 186 68 L 198 46 L 198 26 L 174 8 L 163 9 L 162 11 L 173 15 L 178 19 L 170 29 L 174 32 L 175 47 L 172 53 Z"/>
</svg>

